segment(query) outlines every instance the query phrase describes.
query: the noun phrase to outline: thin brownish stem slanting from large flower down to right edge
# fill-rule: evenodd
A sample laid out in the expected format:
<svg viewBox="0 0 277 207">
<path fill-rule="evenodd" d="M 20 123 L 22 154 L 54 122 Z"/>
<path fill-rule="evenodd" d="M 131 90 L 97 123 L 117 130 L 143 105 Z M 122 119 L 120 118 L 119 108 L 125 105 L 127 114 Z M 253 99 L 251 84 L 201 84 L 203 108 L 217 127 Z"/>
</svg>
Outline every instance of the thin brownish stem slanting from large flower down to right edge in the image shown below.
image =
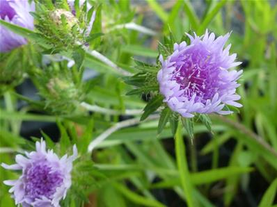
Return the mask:
<svg viewBox="0 0 277 207">
<path fill-rule="evenodd" d="M 238 129 L 241 133 L 248 135 L 249 138 L 252 138 L 256 142 L 258 142 L 258 144 L 260 144 L 265 149 L 269 150 L 271 154 L 277 157 L 277 151 L 275 151 L 267 142 L 264 142 L 264 139 L 260 137 L 260 135 L 253 133 L 253 131 L 251 131 L 250 129 L 247 129 L 243 124 L 240 124 L 239 122 L 234 122 L 231 119 L 223 117 L 222 115 L 212 115 L 212 117 L 215 117 L 216 119 L 220 119 L 222 122 L 225 122 L 226 124 L 229 124 L 235 129 Z"/>
</svg>

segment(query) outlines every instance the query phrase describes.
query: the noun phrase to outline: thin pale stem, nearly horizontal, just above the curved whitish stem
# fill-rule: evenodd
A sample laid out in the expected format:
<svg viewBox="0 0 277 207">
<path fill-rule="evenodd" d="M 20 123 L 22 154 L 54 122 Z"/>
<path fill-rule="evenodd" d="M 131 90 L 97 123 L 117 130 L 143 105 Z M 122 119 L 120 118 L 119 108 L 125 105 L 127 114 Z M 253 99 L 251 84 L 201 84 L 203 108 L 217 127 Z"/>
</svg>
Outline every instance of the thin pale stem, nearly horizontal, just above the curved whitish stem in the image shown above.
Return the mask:
<svg viewBox="0 0 277 207">
<path fill-rule="evenodd" d="M 96 105 L 90 105 L 86 102 L 82 102 L 81 106 L 86 108 L 86 110 L 90 110 L 93 112 L 97 112 L 97 113 L 102 113 L 105 115 L 141 115 L 142 114 L 142 110 L 140 109 L 126 109 L 124 111 L 122 110 L 113 110 L 110 108 L 102 108 L 100 106 L 96 106 Z"/>
</svg>

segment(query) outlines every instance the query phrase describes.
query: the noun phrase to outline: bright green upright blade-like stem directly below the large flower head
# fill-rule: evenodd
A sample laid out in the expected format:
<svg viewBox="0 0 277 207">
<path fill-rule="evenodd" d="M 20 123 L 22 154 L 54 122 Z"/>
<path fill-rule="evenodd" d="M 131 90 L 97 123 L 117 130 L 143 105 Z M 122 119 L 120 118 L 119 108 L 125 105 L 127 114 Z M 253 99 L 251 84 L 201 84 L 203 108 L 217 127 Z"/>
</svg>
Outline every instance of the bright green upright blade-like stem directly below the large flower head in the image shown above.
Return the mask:
<svg viewBox="0 0 277 207">
<path fill-rule="evenodd" d="M 194 207 L 192 192 L 193 186 L 189 179 L 189 167 L 186 159 L 186 147 L 182 136 L 182 124 L 179 122 L 177 131 L 175 133 L 175 153 L 177 159 L 177 166 L 180 174 L 182 188 L 187 200 L 187 206 Z"/>
</svg>

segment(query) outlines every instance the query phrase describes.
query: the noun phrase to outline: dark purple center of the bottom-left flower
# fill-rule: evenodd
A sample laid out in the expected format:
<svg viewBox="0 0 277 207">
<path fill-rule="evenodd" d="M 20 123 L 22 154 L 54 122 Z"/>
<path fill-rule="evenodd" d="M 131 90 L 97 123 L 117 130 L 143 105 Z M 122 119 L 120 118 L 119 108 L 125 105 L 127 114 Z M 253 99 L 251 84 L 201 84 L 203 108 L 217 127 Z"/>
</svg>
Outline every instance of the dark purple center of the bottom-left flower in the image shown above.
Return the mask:
<svg viewBox="0 0 277 207">
<path fill-rule="evenodd" d="M 52 169 L 47 160 L 33 163 L 25 172 L 25 193 L 30 199 L 52 198 L 63 182 L 60 171 Z"/>
</svg>

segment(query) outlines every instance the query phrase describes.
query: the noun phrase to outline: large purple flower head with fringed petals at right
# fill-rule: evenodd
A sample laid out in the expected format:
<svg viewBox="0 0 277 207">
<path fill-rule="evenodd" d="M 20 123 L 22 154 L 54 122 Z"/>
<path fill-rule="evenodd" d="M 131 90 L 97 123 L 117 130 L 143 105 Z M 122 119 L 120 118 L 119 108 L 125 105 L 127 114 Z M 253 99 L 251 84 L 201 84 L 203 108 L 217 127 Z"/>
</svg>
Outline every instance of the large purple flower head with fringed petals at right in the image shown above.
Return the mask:
<svg viewBox="0 0 277 207">
<path fill-rule="evenodd" d="M 159 91 L 171 110 L 183 117 L 192 113 L 230 114 L 223 110 L 225 104 L 241 107 L 235 94 L 237 80 L 242 70 L 230 70 L 240 62 L 234 62 L 236 54 L 229 55 L 231 45 L 223 49 L 230 33 L 215 38 L 214 33 L 198 37 L 187 34 L 191 44 L 174 44 L 174 52 L 166 60 L 159 57 L 162 68 L 157 74 Z"/>
</svg>

